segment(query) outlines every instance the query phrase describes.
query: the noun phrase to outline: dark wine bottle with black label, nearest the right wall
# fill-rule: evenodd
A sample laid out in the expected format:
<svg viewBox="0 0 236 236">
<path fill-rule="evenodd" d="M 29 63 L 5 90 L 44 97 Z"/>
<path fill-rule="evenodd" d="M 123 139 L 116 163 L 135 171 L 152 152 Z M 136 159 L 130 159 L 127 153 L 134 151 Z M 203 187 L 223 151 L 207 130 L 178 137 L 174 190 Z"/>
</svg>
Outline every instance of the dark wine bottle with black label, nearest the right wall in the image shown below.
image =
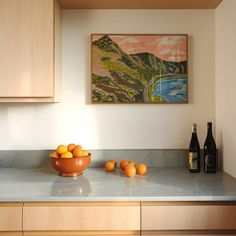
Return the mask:
<svg viewBox="0 0 236 236">
<path fill-rule="evenodd" d="M 204 143 L 204 172 L 216 173 L 217 151 L 216 143 L 212 135 L 212 123 L 207 123 L 207 137 Z"/>
</svg>

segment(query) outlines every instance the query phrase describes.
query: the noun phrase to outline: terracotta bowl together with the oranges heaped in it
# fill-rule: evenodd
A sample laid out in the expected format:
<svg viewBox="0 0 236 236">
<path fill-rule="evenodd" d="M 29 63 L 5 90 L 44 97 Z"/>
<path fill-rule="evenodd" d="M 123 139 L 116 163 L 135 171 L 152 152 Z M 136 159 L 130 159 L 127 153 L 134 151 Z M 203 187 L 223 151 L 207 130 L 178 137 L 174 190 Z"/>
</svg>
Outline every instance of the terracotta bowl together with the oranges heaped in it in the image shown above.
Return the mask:
<svg viewBox="0 0 236 236">
<path fill-rule="evenodd" d="M 75 177 L 83 174 L 89 166 L 91 154 L 83 150 L 81 145 L 59 145 L 55 152 L 49 155 L 53 168 L 60 176 Z"/>
</svg>

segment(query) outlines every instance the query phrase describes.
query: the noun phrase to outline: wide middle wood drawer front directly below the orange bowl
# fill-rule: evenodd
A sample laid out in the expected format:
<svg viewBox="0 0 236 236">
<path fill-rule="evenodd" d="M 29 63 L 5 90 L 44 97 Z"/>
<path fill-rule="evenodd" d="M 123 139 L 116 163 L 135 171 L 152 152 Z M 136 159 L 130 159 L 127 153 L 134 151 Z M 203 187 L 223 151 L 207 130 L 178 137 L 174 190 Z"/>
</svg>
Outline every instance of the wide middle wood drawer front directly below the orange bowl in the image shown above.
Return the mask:
<svg viewBox="0 0 236 236">
<path fill-rule="evenodd" d="M 140 230 L 139 205 L 25 205 L 24 230 Z"/>
</svg>

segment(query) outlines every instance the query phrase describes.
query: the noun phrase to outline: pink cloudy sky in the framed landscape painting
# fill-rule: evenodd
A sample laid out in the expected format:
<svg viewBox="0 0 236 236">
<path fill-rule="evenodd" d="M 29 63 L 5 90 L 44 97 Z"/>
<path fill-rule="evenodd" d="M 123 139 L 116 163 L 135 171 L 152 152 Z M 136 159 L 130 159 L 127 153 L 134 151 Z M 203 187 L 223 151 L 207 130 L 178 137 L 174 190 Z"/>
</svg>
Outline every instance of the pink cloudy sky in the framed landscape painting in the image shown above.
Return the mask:
<svg viewBox="0 0 236 236">
<path fill-rule="evenodd" d="M 104 35 L 93 35 L 97 40 Z M 109 35 L 128 54 L 148 52 L 166 61 L 187 60 L 184 35 Z"/>
</svg>

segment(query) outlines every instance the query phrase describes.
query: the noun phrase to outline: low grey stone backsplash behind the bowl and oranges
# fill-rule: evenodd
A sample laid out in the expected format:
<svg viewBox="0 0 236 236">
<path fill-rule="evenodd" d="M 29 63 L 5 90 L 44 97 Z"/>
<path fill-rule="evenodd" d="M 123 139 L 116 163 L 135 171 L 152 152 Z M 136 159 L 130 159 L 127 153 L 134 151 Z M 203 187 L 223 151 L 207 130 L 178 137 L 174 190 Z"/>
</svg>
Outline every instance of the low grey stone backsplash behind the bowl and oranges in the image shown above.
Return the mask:
<svg viewBox="0 0 236 236">
<path fill-rule="evenodd" d="M 52 150 L 1 150 L 0 167 L 35 168 L 50 166 L 49 153 Z M 146 163 L 149 167 L 186 167 L 186 149 L 128 149 L 128 150 L 89 150 L 92 154 L 90 167 L 102 167 L 104 161 L 115 159 L 134 160 Z"/>
</svg>

